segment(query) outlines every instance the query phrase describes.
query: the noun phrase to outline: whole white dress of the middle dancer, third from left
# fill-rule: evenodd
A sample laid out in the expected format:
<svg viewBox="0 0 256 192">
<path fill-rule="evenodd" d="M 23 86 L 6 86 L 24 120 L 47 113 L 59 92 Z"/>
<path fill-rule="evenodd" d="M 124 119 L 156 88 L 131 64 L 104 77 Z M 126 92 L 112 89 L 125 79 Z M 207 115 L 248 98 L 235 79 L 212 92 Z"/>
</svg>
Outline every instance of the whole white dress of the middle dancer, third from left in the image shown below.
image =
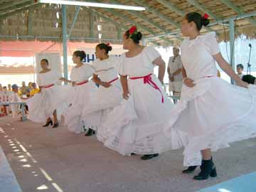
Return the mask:
<svg viewBox="0 0 256 192">
<path fill-rule="evenodd" d="M 98 75 L 102 82 L 110 82 L 112 85 L 110 87 L 100 86 L 96 92 L 94 102 L 87 103 L 82 111 L 82 119 L 86 120 L 88 114 L 95 114 L 100 118 L 97 124 L 94 124 L 95 127 L 92 127 L 92 129 L 98 128 L 98 138 L 102 135 L 100 124 L 105 119 L 108 111 L 122 101 L 122 88 L 116 70 L 117 60 L 116 56 L 110 56 L 108 59 L 95 60 L 92 63 L 92 68 L 95 69 L 94 74 Z"/>
</svg>

